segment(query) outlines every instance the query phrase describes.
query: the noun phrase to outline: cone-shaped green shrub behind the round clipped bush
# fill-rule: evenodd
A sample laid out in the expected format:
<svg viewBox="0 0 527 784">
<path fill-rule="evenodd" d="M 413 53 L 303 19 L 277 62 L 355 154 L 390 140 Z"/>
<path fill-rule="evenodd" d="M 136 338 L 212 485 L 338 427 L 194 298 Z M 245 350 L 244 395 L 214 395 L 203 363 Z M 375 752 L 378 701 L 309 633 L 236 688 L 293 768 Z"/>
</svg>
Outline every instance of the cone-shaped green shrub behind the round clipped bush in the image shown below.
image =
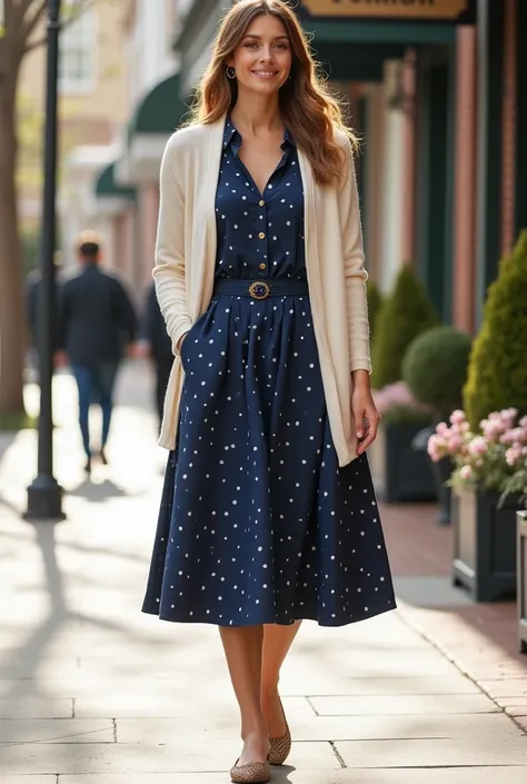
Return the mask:
<svg viewBox="0 0 527 784">
<path fill-rule="evenodd" d="M 415 337 L 439 324 L 437 311 L 412 269 L 402 267 L 392 294 L 385 299 L 372 344 L 371 384 L 381 389 L 402 377 L 402 359 Z"/>
</svg>

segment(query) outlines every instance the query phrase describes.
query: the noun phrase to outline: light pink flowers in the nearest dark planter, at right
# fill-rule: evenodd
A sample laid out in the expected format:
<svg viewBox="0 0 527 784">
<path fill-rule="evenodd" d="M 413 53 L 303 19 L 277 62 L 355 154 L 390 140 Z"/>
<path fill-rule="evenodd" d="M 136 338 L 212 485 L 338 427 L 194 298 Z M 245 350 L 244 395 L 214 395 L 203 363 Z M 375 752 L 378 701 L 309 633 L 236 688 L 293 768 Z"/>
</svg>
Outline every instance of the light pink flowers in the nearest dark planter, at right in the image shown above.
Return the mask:
<svg viewBox="0 0 527 784">
<path fill-rule="evenodd" d="M 527 416 L 518 421 L 516 408 L 493 411 L 478 433 L 464 411 L 454 411 L 430 436 L 428 454 L 435 463 L 451 459 L 454 487 L 527 494 Z"/>
</svg>

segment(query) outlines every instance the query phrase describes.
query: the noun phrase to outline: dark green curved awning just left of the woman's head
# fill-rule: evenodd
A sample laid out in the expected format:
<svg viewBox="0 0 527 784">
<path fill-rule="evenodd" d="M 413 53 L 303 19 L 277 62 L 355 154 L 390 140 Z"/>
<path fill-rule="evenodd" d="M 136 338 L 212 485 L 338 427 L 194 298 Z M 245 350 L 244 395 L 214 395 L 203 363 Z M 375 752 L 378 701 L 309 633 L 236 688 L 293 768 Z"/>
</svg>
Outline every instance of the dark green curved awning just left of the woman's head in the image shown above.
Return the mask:
<svg viewBox="0 0 527 784">
<path fill-rule="evenodd" d="M 142 133 L 169 137 L 188 110 L 179 93 L 179 75 L 175 73 L 156 85 L 136 106 L 128 126 L 128 143 Z"/>
</svg>

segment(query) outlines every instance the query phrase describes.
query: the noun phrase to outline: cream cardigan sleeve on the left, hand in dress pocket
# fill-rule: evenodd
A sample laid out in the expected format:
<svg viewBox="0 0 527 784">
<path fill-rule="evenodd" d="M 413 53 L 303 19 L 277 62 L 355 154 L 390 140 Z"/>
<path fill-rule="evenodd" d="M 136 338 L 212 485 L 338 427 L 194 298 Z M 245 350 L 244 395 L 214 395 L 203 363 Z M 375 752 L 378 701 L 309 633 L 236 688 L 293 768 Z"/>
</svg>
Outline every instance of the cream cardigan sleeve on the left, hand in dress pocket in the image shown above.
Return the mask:
<svg viewBox="0 0 527 784">
<path fill-rule="evenodd" d="M 161 160 L 159 220 L 153 278 L 159 307 L 172 341 L 172 353 L 192 326 L 185 280 L 185 192 L 177 166 L 177 133 L 168 141 Z"/>
</svg>

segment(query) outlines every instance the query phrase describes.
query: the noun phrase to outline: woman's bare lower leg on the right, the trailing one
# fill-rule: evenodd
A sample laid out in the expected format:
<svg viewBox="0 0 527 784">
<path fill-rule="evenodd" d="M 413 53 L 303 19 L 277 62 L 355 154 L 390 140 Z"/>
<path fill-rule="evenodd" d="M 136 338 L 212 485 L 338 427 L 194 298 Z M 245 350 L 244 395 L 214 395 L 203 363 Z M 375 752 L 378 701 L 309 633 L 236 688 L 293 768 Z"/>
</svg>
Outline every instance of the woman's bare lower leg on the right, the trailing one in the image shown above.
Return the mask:
<svg viewBox="0 0 527 784">
<path fill-rule="evenodd" d="M 270 737 L 286 734 L 286 720 L 278 696 L 280 668 L 297 636 L 301 621 L 290 626 L 266 624 L 264 626 L 264 649 L 261 656 L 260 704 L 266 717 Z"/>
</svg>

